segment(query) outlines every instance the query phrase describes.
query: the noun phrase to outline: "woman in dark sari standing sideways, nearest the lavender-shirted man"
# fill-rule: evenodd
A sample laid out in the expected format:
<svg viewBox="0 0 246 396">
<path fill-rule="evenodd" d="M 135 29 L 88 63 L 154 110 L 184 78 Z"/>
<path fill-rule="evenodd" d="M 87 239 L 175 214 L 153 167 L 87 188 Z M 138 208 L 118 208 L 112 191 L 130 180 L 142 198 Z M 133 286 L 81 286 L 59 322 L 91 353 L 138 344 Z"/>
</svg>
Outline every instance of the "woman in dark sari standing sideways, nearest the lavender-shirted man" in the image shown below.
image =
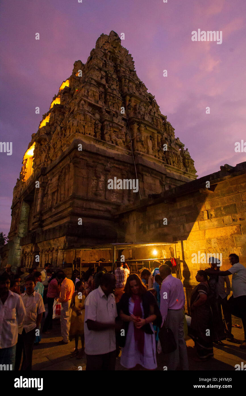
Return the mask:
<svg viewBox="0 0 246 396">
<path fill-rule="evenodd" d="M 198 359 L 205 361 L 214 356 L 212 339 L 212 312 L 208 276 L 204 270 L 197 271 L 195 279 L 199 284 L 193 289 L 190 301 L 191 324 L 189 335 L 195 343 Z"/>
</svg>

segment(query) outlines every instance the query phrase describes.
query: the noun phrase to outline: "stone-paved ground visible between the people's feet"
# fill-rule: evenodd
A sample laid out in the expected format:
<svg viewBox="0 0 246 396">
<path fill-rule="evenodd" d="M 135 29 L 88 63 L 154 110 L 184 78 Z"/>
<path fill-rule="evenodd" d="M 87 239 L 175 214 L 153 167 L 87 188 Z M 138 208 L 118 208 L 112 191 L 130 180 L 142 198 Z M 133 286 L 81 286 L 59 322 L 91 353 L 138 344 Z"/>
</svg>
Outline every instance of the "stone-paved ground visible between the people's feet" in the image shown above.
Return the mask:
<svg viewBox="0 0 246 396">
<path fill-rule="evenodd" d="M 42 324 L 41 324 L 42 328 Z M 233 327 L 232 332 L 235 338 L 243 339 L 243 329 Z M 34 346 L 32 368 L 33 370 L 78 370 L 81 366 L 82 370 L 85 370 L 86 358 L 77 359 L 70 358 L 70 353 L 75 348 L 74 341 L 68 343 L 68 345 L 57 345 L 57 341 L 60 341 L 60 320 L 53 320 L 53 330 L 49 335 L 42 335 L 42 339 L 39 345 Z M 235 364 L 246 363 L 246 350 L 241 350 L 239 344 L 229 343 L 223 341 L 224 346 L 214 344 L 214 359 L 208 362 L 194 362 L 193 357 L 196 356 L 193 348 L 194 343 L 192 339 L 186 340 L 188 346 L 188 358 L 190 370 L 235 370 Z M 81 347 L 81 341 L 79 340 L 79 348 Z M 166 366 L 166 359 L 163 354 L 157 354 L 158 368 L 156 370 L 163 370 L 163 366 Z M 116 360 L 116 370 L 126 370 L 120 365 L 120 358 Z"/>
</svg>

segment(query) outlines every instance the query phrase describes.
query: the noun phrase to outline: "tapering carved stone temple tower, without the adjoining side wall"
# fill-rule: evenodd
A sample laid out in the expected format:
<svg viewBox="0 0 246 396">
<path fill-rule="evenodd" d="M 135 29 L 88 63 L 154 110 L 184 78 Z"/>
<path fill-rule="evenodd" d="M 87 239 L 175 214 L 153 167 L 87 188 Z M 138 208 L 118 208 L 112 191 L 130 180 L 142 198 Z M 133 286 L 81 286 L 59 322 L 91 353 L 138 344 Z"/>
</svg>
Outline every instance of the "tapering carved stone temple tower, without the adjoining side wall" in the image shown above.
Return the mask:
<svg viewBox="0 0 246 396">
<path fill-rule="evenodd" d="M 30 267 L 39 255 L 42 267 L 62 263 L 65 248 L 125 242 L 114 214 L 194 180 L 193 163 L 118 34 L 101 34 L 32 134 L 13 190 L 4 262 Z M 109 189 L 115 177 L 138 179 L 139 192 Z"/>
</svg>

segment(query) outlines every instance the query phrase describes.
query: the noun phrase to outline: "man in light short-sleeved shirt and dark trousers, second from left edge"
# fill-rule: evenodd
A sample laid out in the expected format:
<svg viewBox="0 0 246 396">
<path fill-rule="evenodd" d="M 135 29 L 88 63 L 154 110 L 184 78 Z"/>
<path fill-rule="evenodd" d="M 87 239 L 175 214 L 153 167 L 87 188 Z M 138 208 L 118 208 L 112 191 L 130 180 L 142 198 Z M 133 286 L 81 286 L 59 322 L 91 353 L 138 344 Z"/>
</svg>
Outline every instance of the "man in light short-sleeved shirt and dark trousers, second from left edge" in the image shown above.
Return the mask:
<svg viewBox="0 0 246 396">
<path fill-rule="evenodd" d="M 39 326 L 42 314 L 45 312 L 43 299 L 39 293 L 34 291 L 34 279 L 26 278 L 26 291 L 21 298 L 26 309 L 24 323 L 18 327 L 18 342 L 16 348 L 15 370 L 19 370 L 23 351 L 23 363 L 21 370 L 32 370 L 32 351 L 35 336 L 39 335 Z"/>
</svg>

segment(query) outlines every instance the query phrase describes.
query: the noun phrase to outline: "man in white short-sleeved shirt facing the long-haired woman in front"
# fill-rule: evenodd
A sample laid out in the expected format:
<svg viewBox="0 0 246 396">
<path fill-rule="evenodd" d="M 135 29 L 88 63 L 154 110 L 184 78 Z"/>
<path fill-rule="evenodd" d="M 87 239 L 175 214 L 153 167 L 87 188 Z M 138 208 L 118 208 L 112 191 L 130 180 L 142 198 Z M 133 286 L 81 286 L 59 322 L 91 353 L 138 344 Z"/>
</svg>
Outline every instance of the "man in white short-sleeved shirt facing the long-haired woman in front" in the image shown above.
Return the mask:
<svg viewBox="0 0 246 396">
<path fill-rule="evenodd" d="M 85 299 L 86 370 L 115 370 L 115 282 L 115 275 L 103 274 L 98 289 Z"/>
</svg>

